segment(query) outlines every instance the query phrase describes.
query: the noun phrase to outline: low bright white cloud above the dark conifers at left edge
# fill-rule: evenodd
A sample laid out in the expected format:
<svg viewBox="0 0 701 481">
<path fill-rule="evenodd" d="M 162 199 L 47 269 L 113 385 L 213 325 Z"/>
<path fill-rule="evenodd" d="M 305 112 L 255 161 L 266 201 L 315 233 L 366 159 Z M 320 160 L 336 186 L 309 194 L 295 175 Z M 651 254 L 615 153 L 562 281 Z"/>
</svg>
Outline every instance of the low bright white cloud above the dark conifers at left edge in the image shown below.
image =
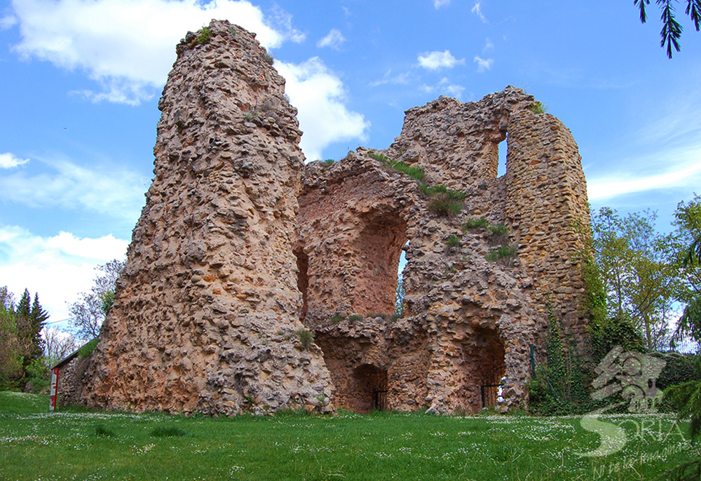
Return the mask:
<svg viewBox="0 0 701 481">
<path fill-rule="evenodd" d="M 0 225 L 0 285 L 17 295 L 25 288 L 39 293 L 50 322 L 68 317 L 66 302 L 90 290 L 95 267 L 125 257 L 128 241 L 104 236 L 76 238 L 62 232 L 54 237 L 35 236 L 18 226 Z"/>
</svg>

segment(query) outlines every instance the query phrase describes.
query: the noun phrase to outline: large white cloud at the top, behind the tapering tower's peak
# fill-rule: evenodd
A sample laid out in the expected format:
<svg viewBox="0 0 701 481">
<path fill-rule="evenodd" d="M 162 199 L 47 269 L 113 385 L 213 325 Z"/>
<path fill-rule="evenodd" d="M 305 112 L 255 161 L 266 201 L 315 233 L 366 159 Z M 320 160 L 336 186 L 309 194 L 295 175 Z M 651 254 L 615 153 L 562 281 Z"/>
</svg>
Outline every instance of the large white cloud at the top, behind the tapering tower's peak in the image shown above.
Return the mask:
<svg viewBox="0 0 701 481">
<path fill-rule="evenodd" d="M 14 0 L 13 9 L 22 36 L 15 49 L 21 55 L 82 69 L 103 88 L 83 94 L 128 104 L 160 91 L 179 39 L 212 18 L 256 32 L 266 47 L 304 40 L 289 14 L 273 11 L 272 22 L 280 28 L 274 29 L 246 0 Z"/>
</svg>

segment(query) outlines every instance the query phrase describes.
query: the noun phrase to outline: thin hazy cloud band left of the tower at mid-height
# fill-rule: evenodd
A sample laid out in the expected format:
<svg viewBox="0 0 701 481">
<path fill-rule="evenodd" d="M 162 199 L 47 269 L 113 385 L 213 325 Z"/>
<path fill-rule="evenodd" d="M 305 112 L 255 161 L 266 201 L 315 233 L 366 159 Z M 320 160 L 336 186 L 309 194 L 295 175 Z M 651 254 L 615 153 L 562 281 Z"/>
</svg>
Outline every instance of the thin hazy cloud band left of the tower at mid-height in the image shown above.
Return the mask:
<svg viewBox="0 0 701 481">
<path fill-rule="evenodd" d="M 125 219 L 139 217 L 149 179 L 114 166 L 90 170 L 65 159 L 36 160 L 48 170 L 0 175 L 0 200 L 32 208 L 84 208 Z"/>
</svg>

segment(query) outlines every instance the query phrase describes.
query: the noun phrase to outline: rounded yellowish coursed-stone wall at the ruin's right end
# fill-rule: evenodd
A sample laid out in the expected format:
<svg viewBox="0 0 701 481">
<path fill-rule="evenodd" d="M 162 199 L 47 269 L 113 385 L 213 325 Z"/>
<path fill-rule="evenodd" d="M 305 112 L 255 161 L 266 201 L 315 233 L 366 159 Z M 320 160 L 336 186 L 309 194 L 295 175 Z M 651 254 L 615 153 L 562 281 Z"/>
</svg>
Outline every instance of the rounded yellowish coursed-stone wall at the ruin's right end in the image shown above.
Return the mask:
<svg viewBox="0 0 701 481">
<path fill-rule="evenodd" d="M 533 279 L 533 303 L 539 309 L 550 304 L 568 334 L 583 339 L 580 257 L 589 212 L 581 156 L 569 129 L 550 114 L 514 116 L 504 180 L 506 217 Z"/>
</svg>

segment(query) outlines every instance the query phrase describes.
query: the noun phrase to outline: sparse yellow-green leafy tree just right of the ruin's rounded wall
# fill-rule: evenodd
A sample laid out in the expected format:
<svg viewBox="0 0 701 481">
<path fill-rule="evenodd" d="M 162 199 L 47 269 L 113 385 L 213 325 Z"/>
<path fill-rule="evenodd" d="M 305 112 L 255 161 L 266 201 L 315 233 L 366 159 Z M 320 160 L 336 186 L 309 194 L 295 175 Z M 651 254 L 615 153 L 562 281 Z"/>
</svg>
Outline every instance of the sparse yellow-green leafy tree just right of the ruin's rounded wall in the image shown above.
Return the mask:
<svg viewBox="0 0 701 481">
<path fill-rule="evenodd" d="M 602 208 L 592 213 L 592 250 L 610 319 L 631 323 L 647 348 L 669 340 L 669 321 L 680 290 L 673 236 L 655 232 L 655 212 L 620 217 Z"/>
</svg>

